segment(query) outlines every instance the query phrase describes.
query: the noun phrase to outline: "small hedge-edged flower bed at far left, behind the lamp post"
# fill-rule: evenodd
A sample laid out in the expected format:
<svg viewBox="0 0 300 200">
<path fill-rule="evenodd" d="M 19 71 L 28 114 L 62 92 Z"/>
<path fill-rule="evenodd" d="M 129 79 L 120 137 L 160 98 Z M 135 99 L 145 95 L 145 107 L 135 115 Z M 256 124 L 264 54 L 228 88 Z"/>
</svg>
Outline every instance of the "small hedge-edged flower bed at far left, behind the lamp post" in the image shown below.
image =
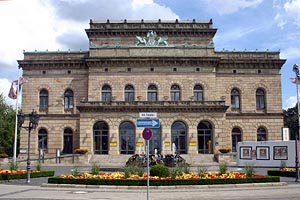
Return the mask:
<svg viewBox="0 0 300 200">
<path fill-rule="evenodd" d="M 31 178 L 50 177 L 50 176 L 54 176 L 54 173 L 55 173 L 54 171 L 32 170 L 32 171 L 30 171 L 30 177 Z M 27 178 L 26 170 L 0 169 L 0 180 L 26 179 L 26 178 Z"/>
</svg>

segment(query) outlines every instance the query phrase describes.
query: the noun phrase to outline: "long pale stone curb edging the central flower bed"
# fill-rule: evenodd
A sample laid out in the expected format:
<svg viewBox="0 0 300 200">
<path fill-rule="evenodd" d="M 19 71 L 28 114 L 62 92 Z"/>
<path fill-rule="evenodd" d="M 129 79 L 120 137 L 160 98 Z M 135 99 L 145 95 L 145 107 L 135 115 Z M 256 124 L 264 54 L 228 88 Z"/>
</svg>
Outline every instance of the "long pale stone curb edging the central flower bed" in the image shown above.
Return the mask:
<svg viewBox="0 0 300 200">
<path fill-rule="evenodd" d="M 224 185 L 174 185 L 174 186 L 150 186 L 151 190 L 174 190 L 174 189 L 228 189 L 246 187 L 272 187 L 287 186 L 287 182 L 271 183 L 245 183 L 245 184 L 224 184 Z M 43 183 L 40 187 L 48 188 L 80 188 L 80 189 L 115 189 L 115 190 L 145 190 L 146 186 L 118 186 L 118 185 L 75 185 L 75 184 L 51 184 Z"/>
</svg>

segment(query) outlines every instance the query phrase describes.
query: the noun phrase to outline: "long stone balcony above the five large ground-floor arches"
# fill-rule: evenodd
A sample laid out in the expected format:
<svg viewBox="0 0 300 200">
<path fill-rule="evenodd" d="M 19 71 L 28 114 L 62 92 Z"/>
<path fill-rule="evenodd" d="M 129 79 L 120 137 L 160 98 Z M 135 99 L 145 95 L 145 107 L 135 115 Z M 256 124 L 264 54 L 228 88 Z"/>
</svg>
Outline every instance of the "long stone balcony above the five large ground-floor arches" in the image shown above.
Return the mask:
<svg viewBox="0 0 300 200">
<path fill-rule="evenodd" d="M 80 112 L 221 112 L 225 101 L 81 101 Z"/>
</svg>

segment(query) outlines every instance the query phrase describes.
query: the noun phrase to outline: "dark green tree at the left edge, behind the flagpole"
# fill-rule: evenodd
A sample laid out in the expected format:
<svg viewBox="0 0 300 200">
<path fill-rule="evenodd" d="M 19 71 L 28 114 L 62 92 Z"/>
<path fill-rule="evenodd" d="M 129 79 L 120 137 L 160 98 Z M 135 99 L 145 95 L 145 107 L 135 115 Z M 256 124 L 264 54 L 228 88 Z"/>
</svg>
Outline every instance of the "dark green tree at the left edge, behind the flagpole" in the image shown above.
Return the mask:
<svg viewBox="0 0 300 200">
<path fill-rule="evenodd" d="M 0 94 L 0 153 L 13 156 L 16 112 Z M 19 144 L 19 142 L 18 142 Z"/>
</svg>

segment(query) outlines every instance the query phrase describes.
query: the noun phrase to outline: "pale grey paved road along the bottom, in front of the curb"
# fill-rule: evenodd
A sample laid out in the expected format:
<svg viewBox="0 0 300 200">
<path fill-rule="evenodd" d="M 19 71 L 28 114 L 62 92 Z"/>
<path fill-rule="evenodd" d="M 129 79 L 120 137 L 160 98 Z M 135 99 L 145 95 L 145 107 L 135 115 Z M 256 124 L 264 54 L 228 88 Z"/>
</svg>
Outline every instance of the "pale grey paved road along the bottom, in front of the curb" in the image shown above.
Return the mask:
<svg viewBox="0 0 300 200">
<path fill-rule="evenodd" d="M 44 188 L 39 186 L 1 185 L 0 199 L 6 200 L 146 200 L 145 190 Z M 211 189 L 164 189 L 150 190 L 149 199 L 155 200 L 299 200 L 300 185 L 272 187 L 240 187 Z"/>
</svg>

